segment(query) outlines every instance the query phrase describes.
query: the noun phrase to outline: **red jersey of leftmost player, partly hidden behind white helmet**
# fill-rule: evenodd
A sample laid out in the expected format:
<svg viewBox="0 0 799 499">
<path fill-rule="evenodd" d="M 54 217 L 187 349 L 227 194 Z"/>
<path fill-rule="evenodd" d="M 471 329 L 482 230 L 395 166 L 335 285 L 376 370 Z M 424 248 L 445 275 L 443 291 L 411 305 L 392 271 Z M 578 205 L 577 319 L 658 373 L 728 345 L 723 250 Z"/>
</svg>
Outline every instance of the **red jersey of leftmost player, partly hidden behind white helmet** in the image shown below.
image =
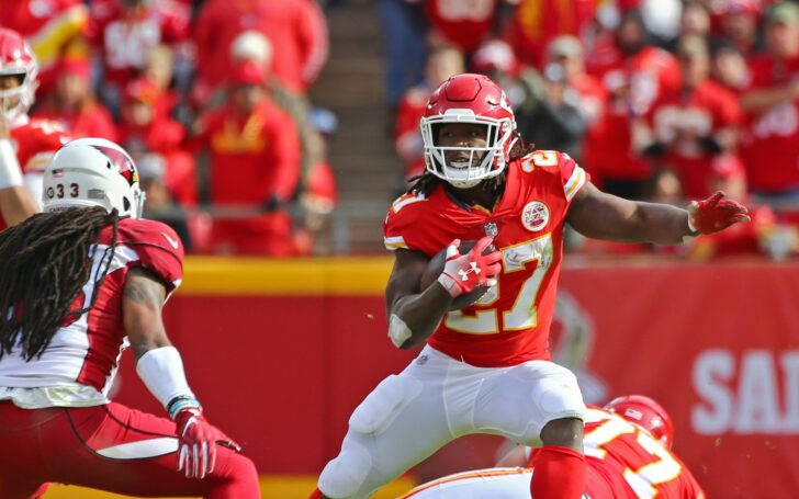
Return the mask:
<svg viewBox="0 0 799 499">
<path fill-rule="evenodd" d="M 42 175 L 47 161 L 69 140 L 69 134 L 58 123 L 48 120 L 23 116 L 12 125 L 11 141 L 25 177 L 25 186 L 34 200 L 42 199 Z M 0 216 L 0 230 L 5 227 L 5 220 Z"/>
</svg>

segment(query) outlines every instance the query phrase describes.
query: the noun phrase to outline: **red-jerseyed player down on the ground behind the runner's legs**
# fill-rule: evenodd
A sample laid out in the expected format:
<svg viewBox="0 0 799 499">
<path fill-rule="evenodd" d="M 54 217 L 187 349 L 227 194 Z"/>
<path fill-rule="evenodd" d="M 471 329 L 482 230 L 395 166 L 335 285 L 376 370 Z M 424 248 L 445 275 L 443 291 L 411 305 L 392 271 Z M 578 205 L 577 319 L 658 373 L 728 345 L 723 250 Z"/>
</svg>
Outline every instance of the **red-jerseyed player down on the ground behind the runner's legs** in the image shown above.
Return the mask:
<svg viewBox="0 0 799 499">
<path fill-rule="evenodd" d="M 583 444 L 586 455 L 584 498 L 702 499 L 690 470 L 672 452 L 672 418 L 653 399 L 628 395 L 604 408 L 588 407 Z M 519 446 L 502 467 L 458 473 L 423 484 L 402 499 L 521 499 L 529 497 L 534 469 L 528 447 Z M 532 451 L 534 458 L 538 451 Z M 516 466 L 516 467 L 511 467 Z"/>
</svg>

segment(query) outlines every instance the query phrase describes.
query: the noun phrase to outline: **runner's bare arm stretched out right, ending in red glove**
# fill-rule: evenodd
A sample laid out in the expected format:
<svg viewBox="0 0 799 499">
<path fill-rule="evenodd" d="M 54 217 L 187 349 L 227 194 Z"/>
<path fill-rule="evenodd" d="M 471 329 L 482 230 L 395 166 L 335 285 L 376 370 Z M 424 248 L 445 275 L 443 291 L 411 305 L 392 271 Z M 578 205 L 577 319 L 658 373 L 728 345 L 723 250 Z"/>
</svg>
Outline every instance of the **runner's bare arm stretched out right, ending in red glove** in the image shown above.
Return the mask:
<svg viewBox="0 0 799 499">
<path fill-rule="evenodd" d="M 686 236 L 713 234 L 749 222 L 746 208 L 717 192 L 688 209 L 617 197 L 587 183 L 575 196 L 566 220 L 579 234 L 619 242 L 677 245 Z"/>
</svg>

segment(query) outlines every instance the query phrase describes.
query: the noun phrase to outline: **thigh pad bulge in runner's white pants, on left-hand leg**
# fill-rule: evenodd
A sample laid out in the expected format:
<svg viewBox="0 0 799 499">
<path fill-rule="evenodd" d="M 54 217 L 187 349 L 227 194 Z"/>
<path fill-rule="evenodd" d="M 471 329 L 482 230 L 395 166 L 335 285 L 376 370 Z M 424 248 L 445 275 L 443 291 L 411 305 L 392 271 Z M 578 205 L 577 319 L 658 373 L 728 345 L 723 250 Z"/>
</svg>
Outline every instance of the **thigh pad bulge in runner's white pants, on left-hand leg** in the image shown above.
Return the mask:
<svg viewBox="0 0 799 499">
<path fill-rule="evenodd" d="M 392 374 L 352 412 L 349 426 L 358 433 L 379 435 L 420 393 L 421 382 L 418 379 Z"/>
</svg>

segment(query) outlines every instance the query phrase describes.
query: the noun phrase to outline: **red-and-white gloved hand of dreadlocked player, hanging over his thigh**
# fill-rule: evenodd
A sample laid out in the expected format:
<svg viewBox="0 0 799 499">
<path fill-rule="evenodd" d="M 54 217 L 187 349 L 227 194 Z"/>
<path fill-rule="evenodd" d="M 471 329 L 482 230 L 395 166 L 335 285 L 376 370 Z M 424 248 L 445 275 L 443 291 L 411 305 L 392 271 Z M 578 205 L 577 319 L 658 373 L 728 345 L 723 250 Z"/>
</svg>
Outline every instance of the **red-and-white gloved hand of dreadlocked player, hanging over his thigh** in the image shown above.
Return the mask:
<svg viewBox="0 0 799 499">
<path fill-rule="evenodd" d="M 179 440 L 178 470 L 187 478 L 205 478 L 216 464 L 216 443 L 236 452 L 241 447 L 220 429 L 205 420 L 199 407 L 185 407 L 175 415 Z"/>
</svg>

